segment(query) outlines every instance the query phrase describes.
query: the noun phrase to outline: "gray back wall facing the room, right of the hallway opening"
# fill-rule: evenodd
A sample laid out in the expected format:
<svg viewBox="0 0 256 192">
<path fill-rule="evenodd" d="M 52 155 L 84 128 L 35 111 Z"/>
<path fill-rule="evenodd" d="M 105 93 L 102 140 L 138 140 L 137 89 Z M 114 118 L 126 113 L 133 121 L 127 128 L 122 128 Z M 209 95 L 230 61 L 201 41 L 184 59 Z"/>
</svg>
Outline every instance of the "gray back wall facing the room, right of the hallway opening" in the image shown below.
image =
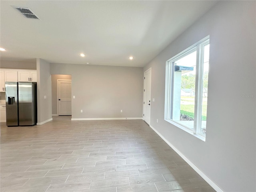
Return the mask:
<svg viewBox="0 0 256 192">
<path fill-rule="evenodd" d="M 72 75 L 72 118 L 142 117 L 143 68 L 51 63 L 50 72 Z"/>
</svg>

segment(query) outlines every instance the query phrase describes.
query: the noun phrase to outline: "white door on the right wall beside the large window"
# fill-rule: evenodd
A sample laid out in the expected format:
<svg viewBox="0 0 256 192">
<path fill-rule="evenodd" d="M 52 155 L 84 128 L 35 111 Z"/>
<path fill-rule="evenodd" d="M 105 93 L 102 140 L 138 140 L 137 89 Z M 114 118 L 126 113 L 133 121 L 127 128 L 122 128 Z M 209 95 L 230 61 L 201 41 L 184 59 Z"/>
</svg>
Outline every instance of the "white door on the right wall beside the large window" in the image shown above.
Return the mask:
<svg viewBox="0 0 256 192">
<path fill-rule="evenodd" d="M 144 112 L 143 120 L 150 125 L 151 108 L 151 68 L 144 72 Z"/>
</svg>

